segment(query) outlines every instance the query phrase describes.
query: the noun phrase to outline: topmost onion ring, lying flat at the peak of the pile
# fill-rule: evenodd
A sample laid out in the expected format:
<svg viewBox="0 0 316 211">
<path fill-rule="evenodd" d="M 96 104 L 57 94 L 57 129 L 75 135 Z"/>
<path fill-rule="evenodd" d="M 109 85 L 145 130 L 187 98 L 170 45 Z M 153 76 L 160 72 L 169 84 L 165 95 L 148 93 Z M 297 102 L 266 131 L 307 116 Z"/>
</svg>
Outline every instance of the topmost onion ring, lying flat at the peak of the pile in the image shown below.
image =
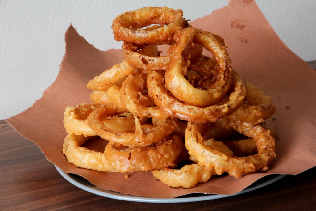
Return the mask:
<svg viewBox="0 0 316 211">
<path fill-rule="evenodd" d="M 152 24 L 165 26 L 141 29 Z M 173 43 L 173 34 L 187 25 L 181 9 L 144 7 L 117 16 L 113 20 L 112 30 L 116 41 L 161 45 Z"/>
</svg>

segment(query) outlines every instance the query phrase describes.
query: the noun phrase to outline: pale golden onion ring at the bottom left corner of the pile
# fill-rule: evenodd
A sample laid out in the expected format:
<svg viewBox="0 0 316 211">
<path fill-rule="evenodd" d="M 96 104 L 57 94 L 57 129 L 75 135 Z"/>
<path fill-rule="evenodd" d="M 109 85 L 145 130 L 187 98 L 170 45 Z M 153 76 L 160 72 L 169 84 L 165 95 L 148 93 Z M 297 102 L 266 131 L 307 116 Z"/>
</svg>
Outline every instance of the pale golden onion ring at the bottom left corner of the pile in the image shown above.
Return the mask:
<svg viewBox="0 0 316 211">
<path fill-rule="evenodd" d="M 63 153 L 68 162 L 80 168 L 118 172 L 104 162 L 103 152 L 96 152 L 81 147 L 85 141 L 91 138 L 93 136 L 75 135 L 74 133 L 69 133 L 66 136 L 63 144 Z"/>
</svg>

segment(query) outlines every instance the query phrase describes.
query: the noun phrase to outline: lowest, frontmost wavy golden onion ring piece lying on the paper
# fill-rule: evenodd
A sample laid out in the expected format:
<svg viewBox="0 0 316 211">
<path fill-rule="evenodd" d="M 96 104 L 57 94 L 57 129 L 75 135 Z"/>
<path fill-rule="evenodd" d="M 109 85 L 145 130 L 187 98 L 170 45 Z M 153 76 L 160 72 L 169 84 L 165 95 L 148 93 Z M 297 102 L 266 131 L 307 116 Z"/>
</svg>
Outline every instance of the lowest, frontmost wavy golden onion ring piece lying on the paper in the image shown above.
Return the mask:
<svg viewBox="0 0 316 211">
<path fill-rule="evenodd" d="M 207 182 L 214 170 L 200 166 L 199 164 L 188 164 L 181 169 L 163 168 L 161 170 L 152 171 L 153 176 L 170 187 L 192 188 L 197 183 Z"/>
</svg>

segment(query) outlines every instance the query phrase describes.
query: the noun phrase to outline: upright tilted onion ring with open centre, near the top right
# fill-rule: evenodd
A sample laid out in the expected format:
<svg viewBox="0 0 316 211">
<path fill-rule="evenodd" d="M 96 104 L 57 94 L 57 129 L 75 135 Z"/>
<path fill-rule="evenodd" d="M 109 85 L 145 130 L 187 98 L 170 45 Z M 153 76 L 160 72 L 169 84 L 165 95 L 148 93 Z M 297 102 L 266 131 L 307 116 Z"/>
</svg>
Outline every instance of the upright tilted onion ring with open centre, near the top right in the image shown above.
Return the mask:
<svg viewBox="0 0 316 211">
<path fill-rule="evenodd" d="M 168 90 L 177 99 L 190 105 L 205 107 L 220 102 L 228 93 L 232 81 L 230 59 L 225 46 L 213 34 L 193 27 L 177 31 L 174 39 L 176 44 L 168 49 L 170 63 L 165 73 Z M 193 87 L 184 77 L 190 65 L 188 48 L 193 41 L 210 51 L 217 64 L 216 82 L 202 89 Z"/>
</svg>

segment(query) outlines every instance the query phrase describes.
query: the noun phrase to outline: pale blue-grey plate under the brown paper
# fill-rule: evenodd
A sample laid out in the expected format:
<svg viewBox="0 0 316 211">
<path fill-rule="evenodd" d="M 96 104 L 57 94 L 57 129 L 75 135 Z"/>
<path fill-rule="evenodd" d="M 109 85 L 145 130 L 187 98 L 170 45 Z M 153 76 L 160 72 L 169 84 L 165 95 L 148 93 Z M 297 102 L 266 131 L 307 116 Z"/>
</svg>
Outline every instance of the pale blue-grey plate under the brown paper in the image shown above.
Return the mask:
<svg viewBox="0 0 316 211">
<path fill-rule="evenodd" d="M 147 198 L 147 197 L 140 197 L 140 196 L 134 196 L 134 195 L 128 195 L 128 194 L 122 194 L 118 192 L 114 192 L 111 190 L 106 190 L 102 188 L 98 188 L 94 186 L 93 184 L 89 183 L 88 180 L 84 179 L 83 177 L 80 177 L 76 174 L 68 174 L 62 171 L 60 168 L 58 168 L 55 165 L 57 171 L 60 173 L 61 176 L 63 176 L 68 182 L 71 184 L 77 186 L 80 189 L 86 190 L 90 193 L 104 196 L 107 198 L 112 199 L 118 199 L 123 201 L 131 201 L 131 202 L 150 202 L 150 203 L 181 203 L 181 202 L 200 202 L 200 201 L 206 201 L 206 200 L 213 200 L 213 199 L 219 199 L 219 198 L 225 198 L 229 196 L 239 195 L 243 193 L 247 193 L 252 190 L 256 190 L 259 188 L 262 188 L 264 186 L 267 186 L 271 183 L 274 183 L 286 175 L 269 175 L 267 177 L 264 177 L 248 188 L 232 195 L 219 195 L 219 194 L 191 194 L 190 196 L 180 196 L 178 198 Z"/>
</svg>

